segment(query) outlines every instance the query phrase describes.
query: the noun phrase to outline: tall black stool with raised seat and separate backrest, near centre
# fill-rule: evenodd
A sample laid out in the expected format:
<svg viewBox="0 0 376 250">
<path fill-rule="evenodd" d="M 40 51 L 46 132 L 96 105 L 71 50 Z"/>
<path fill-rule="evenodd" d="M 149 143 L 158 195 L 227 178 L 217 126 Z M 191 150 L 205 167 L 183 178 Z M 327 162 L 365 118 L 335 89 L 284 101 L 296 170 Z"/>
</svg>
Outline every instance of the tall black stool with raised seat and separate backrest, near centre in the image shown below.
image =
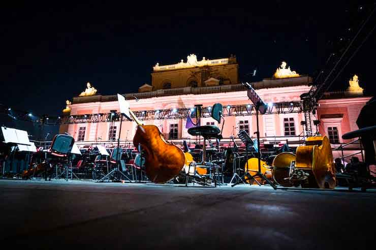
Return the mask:
<svg viewBox="0 0 376 250">
<path fill-rule="evenodd" d="M 218 123 L 221 123 L 221 118 L 223 118 L 222 111 L 223 111 L 222 104 L 220 104 L 220 103 L 214 104 L 212 109 L 211 109 L 211 118 L 216 120 Z M 203 139 L 204 139 L 204 142 L 203 142 L 203 148 L 202 148 L 202 162 L 190 164 L 189 171 L 186 175 L 186 182 L 185 182 L 186 186 L 187 186 L 187 183 L 189 182 L 190 179 L 192 179 L 194 182 L 197 181 L 197 180 L 200 180 L 200 181 L 198 181 L 198 183 L 202 184 L 202 185 L 210 185 L 210 184 L 207 183 L 208 180 L 214 181 L 214 186 L 217 185 L 217 176 L 220 173 L 218 172 L 218 168 L 215 167 L 215 165 L 213 163 L 206 162 L 206 141 L 210 140 L 210 139 L 218 139 L 218 143 L 219 143 L 219 141 L 223 138 L 222 137 L 222 131 L 223 131 L 224 124 L 225 124 L 225 120 L 223 119 L 222 130 L 220 130 L 220 128 L 218 128 L 217 126 L 206 125 L 206 126 L 193 127 L 193 128 L 190 128 L 187 131 L 192 136 L 202 136 Z M 209 170 L 208 171 L 209 177 L 206 178 L 205 176 L 200 176 L 200 175 L 197 176 L 197 171 L 196 171 L 197 166 L 199 166 L 201 168 L 207 168 Z M 193 167 L 195 169 L 194 170 L 195 175 L 190 174 L 191 173 L 191 167 Z M 214 179 L 211 178 L 211 170 L 212 169 L 214 170 Z M 221 175 L 222 175 L 222 179 L 223 179 L 222 171 L 221 171 Z"/>
</svg>

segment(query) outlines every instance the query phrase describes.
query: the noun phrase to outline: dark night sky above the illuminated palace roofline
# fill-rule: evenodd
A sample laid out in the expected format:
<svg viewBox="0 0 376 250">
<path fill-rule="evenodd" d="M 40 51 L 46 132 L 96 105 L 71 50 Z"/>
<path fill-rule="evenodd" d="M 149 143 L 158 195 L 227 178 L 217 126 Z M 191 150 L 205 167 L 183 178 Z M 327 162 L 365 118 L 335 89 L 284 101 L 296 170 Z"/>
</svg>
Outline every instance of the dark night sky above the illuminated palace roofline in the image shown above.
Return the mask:
<svg viewBox="0 0 376 250">
<path fill-rule="evenodd" d="M 344 45 L 339 39 L 354 35 L 348 28 L 359 27 L 373 8 L 329 2 L 202 9 L 191 9 L 201 7 L 199 2 L 177 2 L 176 9 L 146 2 L 139 7 L 94 2 L 37 6 L 34 1 L 3 6 L 0 102 L 58 115 L 87 81 L 104 95 L 136 92 L 150 83 L 156 62 L 174 64 L 190 53 L 199 59 L 235 54 L 244 81 L 255 67 L 260 79 L 271 77 L 282 60 L 300 74 L 315 76 L 333 47 Z M 374 95 L 375 34 L 331 89 L 347 88 L 357 73 L 360 85 Z"/>
</svg>

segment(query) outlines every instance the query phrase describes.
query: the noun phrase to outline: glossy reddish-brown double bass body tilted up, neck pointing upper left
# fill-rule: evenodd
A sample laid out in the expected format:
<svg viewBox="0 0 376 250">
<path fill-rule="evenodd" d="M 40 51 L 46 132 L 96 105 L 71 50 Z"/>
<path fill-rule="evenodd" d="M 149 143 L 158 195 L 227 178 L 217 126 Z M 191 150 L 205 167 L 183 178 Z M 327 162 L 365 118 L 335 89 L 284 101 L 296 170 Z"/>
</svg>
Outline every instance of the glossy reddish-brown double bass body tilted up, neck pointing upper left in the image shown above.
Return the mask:
<svg viewBox="0 0 376 250">
<path fill-rule="evenodd" d="M 146 176 L 155 183 L 164 183 L 179 174 L 185 164 L 184 152 L 163 138 L 154 125 L 137 127 L 133 144 L 144 150 Z"/>
</svg>

